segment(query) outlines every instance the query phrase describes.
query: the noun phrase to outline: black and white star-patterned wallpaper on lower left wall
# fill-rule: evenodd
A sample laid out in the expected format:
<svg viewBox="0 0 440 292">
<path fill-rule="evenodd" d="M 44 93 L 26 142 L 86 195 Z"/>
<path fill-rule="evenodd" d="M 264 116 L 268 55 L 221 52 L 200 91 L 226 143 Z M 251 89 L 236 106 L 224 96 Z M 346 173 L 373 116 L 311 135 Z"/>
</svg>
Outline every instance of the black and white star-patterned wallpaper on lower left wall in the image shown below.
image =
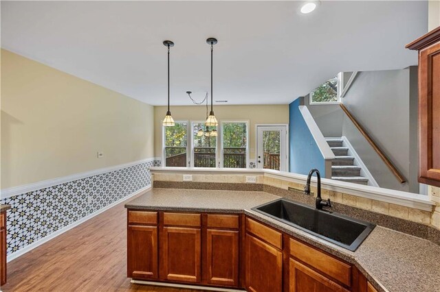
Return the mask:
<svg viewBox="0 0 440 292">
<path fill-rule="evenodd" d="M 160 166 L 160 160 L 1 199 L 11 205 L 8 255 L 148 186 L 153 166 Z"/>
</svg>

